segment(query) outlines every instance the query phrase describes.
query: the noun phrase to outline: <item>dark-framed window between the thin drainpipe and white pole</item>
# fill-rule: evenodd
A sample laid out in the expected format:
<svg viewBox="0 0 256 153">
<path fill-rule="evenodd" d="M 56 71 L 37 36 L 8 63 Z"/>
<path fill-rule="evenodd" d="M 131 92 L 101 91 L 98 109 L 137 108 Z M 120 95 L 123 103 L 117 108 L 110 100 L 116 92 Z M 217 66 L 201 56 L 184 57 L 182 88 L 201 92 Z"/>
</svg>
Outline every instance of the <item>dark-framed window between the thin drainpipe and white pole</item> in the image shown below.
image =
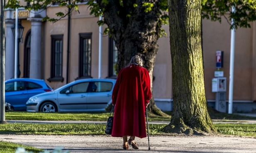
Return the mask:
<svg viewBox="0 0 256 153">
<path fill-rule="evenodd" d="M 79 77 L 91 78 L 92 33 L 80 33 Z"/>
</svg>

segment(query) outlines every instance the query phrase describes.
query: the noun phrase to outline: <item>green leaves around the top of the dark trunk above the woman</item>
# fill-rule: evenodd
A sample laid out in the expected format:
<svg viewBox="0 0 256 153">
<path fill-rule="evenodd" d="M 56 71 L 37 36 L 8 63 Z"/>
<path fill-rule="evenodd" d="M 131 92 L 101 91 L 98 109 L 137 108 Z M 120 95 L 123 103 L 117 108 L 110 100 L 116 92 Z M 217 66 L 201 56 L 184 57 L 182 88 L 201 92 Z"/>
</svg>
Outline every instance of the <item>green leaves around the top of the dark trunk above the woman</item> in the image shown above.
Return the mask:
<svg viewBox="0 0 256 153">
<path fill-rule="evenodd" d="M 110 2 L 112 2 L 112 0 L 89 0 L 87 5 L 89 5 L 90 14 L 94 14 L 95 17 L 104 17 L 104 14 L 108 14 L 110 8 L 112 8 Z M 143 7 L 145 13 L 157 12 L 160 21 L 158 22 L 159 27 L 163 24 L 168 24 L 168 14 L 166 12 L 168 10 L 167 0 L 116 0 L 115 6 L 114 9 L 117 11 L 115 15 L 118 18 L 125 19 L 126 23 L 124 24 L 128 24 L 132 19 L 132 15 L 137 14 L 138 7 Z M 156 8 L 158 8 L 158 10 L 156 10 Z M 104 19 L 98 21 L 99 26 L 103 24 L 107 24 Z M 110 36 L 112 36 L 113 32 L 115 32 L 115 29 L 111 27 L 107 27 L 104 31 L 105 34 L 109 33 Z M 159 34 L 160 36 L 166 35 L 163 29 L 161 29 Z"/>
</svg>

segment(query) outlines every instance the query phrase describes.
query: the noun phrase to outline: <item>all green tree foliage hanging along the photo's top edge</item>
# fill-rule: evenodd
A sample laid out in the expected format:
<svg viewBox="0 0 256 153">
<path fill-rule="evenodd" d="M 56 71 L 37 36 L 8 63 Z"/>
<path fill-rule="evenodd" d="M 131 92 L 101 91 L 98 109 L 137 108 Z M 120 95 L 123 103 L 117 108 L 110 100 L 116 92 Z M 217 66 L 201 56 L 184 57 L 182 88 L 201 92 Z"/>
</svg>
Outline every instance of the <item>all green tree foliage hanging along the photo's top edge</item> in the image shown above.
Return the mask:
<svg viewBox="0 0 256 153">
<path fill-rule="evenodd" d="M 24 0 L 31 5 L 20 5 L 20 0 L 8 0 L 5 8 L 19 8 L 24 7 L 25 10 L 40 10 L 46 9 L 51 6 L 53 3 L 58 3 L 59 6 L 66 6 L 67 8 L 71 8 L 71 12 L 73 10 L 79 11 L 78 3 L 81 0 L 71 0 L 69 4 L 69 0 Z M 156 0 L 144 0 L 143 7 L 145 7 L 145 11 L 152 11 L 154 5 L 156 5 Z M 147 2 L 148 1 L 148 2 Z M 90 6 L 91 14 L 94 14 L 96 17 L 103 15 L 103 12 L 107 10 L 107 8 L 100 7 L 99 3 L 107 6 L 109 0 L 89 0 L 87 5 Z M 126 8 L 125 15 L 127 18 L 131 16 L 136 7 L 138 7 L 137 1 L 135 0 L 117 0 L 120 7 Z M 126 5 L 124 5 L 126 4 Z M 104 6 L 103 5 L 103 6 Z M 160 0 L 158 5 L 160 6 L 160 13 L 167 11 L 167 0 Z M 232 12 L 232 6 L 235 7 L 235 12 Z M 129 9 L 128 9 L 129 8 Z M 117 12 L 120 14 L 121 12 Z M 59 19 L 66 17 L 68 12 L 58 12 L 56 13 L 56 18 L 45 17 L 44 20 L 49 20 L 51 22 L 56 22 Z M 120 14 L 121 15 L 121 14 Z M 227 22 L 231 25 L 231 19 L 233 18 L 236 22 L 234 23 L 235 29 L 238 27 L 251 27 L 250 23 L 256 20 L 256 0 L 202 0 L 202 18 L 210 19 L 211 21 L 222 22 L 222 17 L 224 17 Z M 168 16 L 166 14 L 161 16 L 161 23 L 168 24 Z M 104 21 L 99 21 L 98 24 L 104 24 Z M 106 29 L 105 32 L 109 30 Z M 162 31 L 164 33 L 164 31 Z"/>
</svg>

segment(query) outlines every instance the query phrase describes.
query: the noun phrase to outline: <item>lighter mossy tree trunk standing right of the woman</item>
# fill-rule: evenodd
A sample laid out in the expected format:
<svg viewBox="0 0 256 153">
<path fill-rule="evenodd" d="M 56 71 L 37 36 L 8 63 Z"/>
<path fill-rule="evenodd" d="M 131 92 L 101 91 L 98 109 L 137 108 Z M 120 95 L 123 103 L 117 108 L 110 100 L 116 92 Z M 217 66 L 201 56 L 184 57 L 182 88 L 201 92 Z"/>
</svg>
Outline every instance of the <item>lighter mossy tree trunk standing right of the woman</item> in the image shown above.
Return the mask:
<svg viewBox="0 0 256 153">
<path fill-rule="evenodd" d="M 201 44 L 201 0 L 169 0 L 173 116 L 166 132 L 216 131 L 207 111 Z"/>
</svg>

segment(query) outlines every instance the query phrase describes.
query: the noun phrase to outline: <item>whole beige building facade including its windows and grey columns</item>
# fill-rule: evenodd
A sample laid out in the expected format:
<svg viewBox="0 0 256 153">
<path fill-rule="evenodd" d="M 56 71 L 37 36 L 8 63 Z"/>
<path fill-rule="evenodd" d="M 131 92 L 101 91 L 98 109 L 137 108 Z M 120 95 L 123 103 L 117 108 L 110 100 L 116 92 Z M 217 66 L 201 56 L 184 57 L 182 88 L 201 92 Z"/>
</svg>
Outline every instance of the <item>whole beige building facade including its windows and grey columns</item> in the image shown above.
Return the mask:
<svg viewBox="0 0 256 153">
<path fill-rule="evenodd" d="M 90 15 L 85 3 L 79 5 L 79 12 L 73 11 L 70 19 L 64 17 L 58 22 L 42 22 L 43 17 L 56 18 L 56 12 L 68 10 L 52 5 L 46 10 L 29 12 L 18 10 L 19 21 L 24 27 L 19 43 L 20 77 L 44 79 L 54 89 L 80 78 L 99 77 L 99 38 L 102 38 L 101 78 L 115 77 L 115 44 L 108 35 L 99 34 L 98 17 Z M 6 67 L 5 79 L 14 78 L 14 35 L 15 10 L 5 10 Z M 68 24 L 70 23 L 70 24 Z M 104 31 L 106 26 L 102 27 Z M 221 70 L 227 77 L 229 94 L 230 25 L 202 21 L 203 57 L 205 69 L 205 92 L 208 101 L 215 100 L 212 92 L 212 78 L 216 68 L 216 51 L 224 51 Z M 69 31 L 68 31 L 69 29 Z M 171 51 L 168 25 L 163 26 L 167 36 L 159 38 L 158 55 L 154 66 L 153 94 L 157 100 L 170 101 L 172 97 Z M 69 37 L 68 37 L 69 33 Z M 68 44 L 69 41 L 69 44 Z M 68 49 L 69 46 L 69 49 Z M 251 28 L 237 29 L 234 55 L 235 103 L 254 103 L 256 100 L 256 23 Z M 235 108 L 234 108 L 235 109 Z M 252 108 L 254 109 L 254 108 Z M 255 108 L 256 109 L 256 108 Z"/>
</svg>

